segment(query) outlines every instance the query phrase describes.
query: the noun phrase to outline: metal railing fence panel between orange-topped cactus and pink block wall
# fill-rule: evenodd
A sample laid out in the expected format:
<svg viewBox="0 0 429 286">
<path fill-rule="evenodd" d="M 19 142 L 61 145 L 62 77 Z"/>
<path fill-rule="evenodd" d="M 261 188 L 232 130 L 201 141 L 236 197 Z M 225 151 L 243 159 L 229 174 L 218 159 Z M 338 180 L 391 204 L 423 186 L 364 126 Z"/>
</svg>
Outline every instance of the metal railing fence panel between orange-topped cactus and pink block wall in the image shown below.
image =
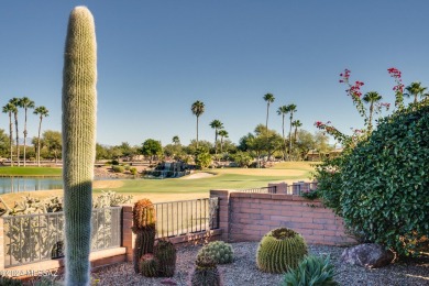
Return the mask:
<svg viewBox="0 0 429 286">
<path fill-rule="evenodd" d="M 156 238 L 170 238 L 219 228 L 219 198 L 154 204 Z"/>
</svg>

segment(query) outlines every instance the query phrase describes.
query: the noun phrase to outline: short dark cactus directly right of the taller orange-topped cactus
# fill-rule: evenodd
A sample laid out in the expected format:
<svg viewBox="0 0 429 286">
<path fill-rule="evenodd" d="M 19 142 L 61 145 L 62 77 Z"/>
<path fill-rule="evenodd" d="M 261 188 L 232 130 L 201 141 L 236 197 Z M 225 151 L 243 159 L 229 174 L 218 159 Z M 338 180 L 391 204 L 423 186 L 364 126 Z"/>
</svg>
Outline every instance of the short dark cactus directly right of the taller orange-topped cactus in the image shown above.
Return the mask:
<svg viewBox="0 0 429 286">
<path fill-rule="evenodd" d="M 154 248 L 155 258 L 160 262 L 158 276 L 173 277 L 176 270 L 176 248 L 167 240 L 158 240 Z"/>
</svg>

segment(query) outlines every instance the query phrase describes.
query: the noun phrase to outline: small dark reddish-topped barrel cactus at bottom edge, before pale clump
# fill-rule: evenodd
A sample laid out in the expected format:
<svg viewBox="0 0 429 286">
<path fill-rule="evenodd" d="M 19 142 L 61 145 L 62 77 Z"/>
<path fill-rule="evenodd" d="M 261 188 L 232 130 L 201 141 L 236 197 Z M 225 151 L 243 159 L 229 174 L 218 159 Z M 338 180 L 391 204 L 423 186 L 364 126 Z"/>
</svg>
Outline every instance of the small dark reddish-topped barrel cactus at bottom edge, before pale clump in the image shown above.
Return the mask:
<svg viewBox="0 0 429 286">
<path fill-rule="evenodd" d="M 199 255 L 195 262 L 191 286 L 220 286 L 220 274 L 216 261 L 208 255 Z"/>
</svg>

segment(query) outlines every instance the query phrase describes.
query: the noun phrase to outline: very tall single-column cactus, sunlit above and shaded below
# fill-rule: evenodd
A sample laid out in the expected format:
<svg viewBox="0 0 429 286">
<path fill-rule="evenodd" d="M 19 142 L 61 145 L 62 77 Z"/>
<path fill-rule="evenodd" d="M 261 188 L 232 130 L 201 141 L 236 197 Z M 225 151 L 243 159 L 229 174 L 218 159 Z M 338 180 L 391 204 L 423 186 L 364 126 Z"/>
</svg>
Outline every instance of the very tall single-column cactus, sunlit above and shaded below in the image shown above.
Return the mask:
<svg viewBox="0 0 429 286">
<path fill-rule="evenodd" d="M 63 180 L 66 285 L 89 285 L 96 157 L 97 42 L 86 7 L 69 16 L 63 70 Z"/>
</svg>

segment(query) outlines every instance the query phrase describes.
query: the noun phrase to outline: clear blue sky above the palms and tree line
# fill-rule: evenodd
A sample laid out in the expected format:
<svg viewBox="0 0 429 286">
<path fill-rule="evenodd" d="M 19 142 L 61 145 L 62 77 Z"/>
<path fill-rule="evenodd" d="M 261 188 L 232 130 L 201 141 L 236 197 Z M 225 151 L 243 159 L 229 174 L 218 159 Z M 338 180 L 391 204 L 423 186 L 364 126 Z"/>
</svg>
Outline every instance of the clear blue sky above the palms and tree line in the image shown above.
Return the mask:
<svg viewBox="0 0 429 286">
<path fill-rule="evenodd" d="M 206 105 L 200 140 L 213 141 L 219 119 L 233 142 L 265 123 L 266 92 L 275 96 L 268 125 L 280 132 L 276 109 L 297 105 L 304 129 L 332 121 L 361 128 L 339 74 L 365 82 L 394 102 L 387 68 L 404 84 L 429 86 L 429 1 L 4 1 L 0 9 L 0 105 L 30 97 L 61 131 L 63 51 L 68 14 L 87 6 L 98 42 L 98 142 L 163 144 L 196 136 L 190 106 Z M 23 112 L 20 114 L 22 136 Z M 30 117 L 29 136 L 37 132 Z M 1 113 L 0 128 L 8 130 Z"/>
</svg>

